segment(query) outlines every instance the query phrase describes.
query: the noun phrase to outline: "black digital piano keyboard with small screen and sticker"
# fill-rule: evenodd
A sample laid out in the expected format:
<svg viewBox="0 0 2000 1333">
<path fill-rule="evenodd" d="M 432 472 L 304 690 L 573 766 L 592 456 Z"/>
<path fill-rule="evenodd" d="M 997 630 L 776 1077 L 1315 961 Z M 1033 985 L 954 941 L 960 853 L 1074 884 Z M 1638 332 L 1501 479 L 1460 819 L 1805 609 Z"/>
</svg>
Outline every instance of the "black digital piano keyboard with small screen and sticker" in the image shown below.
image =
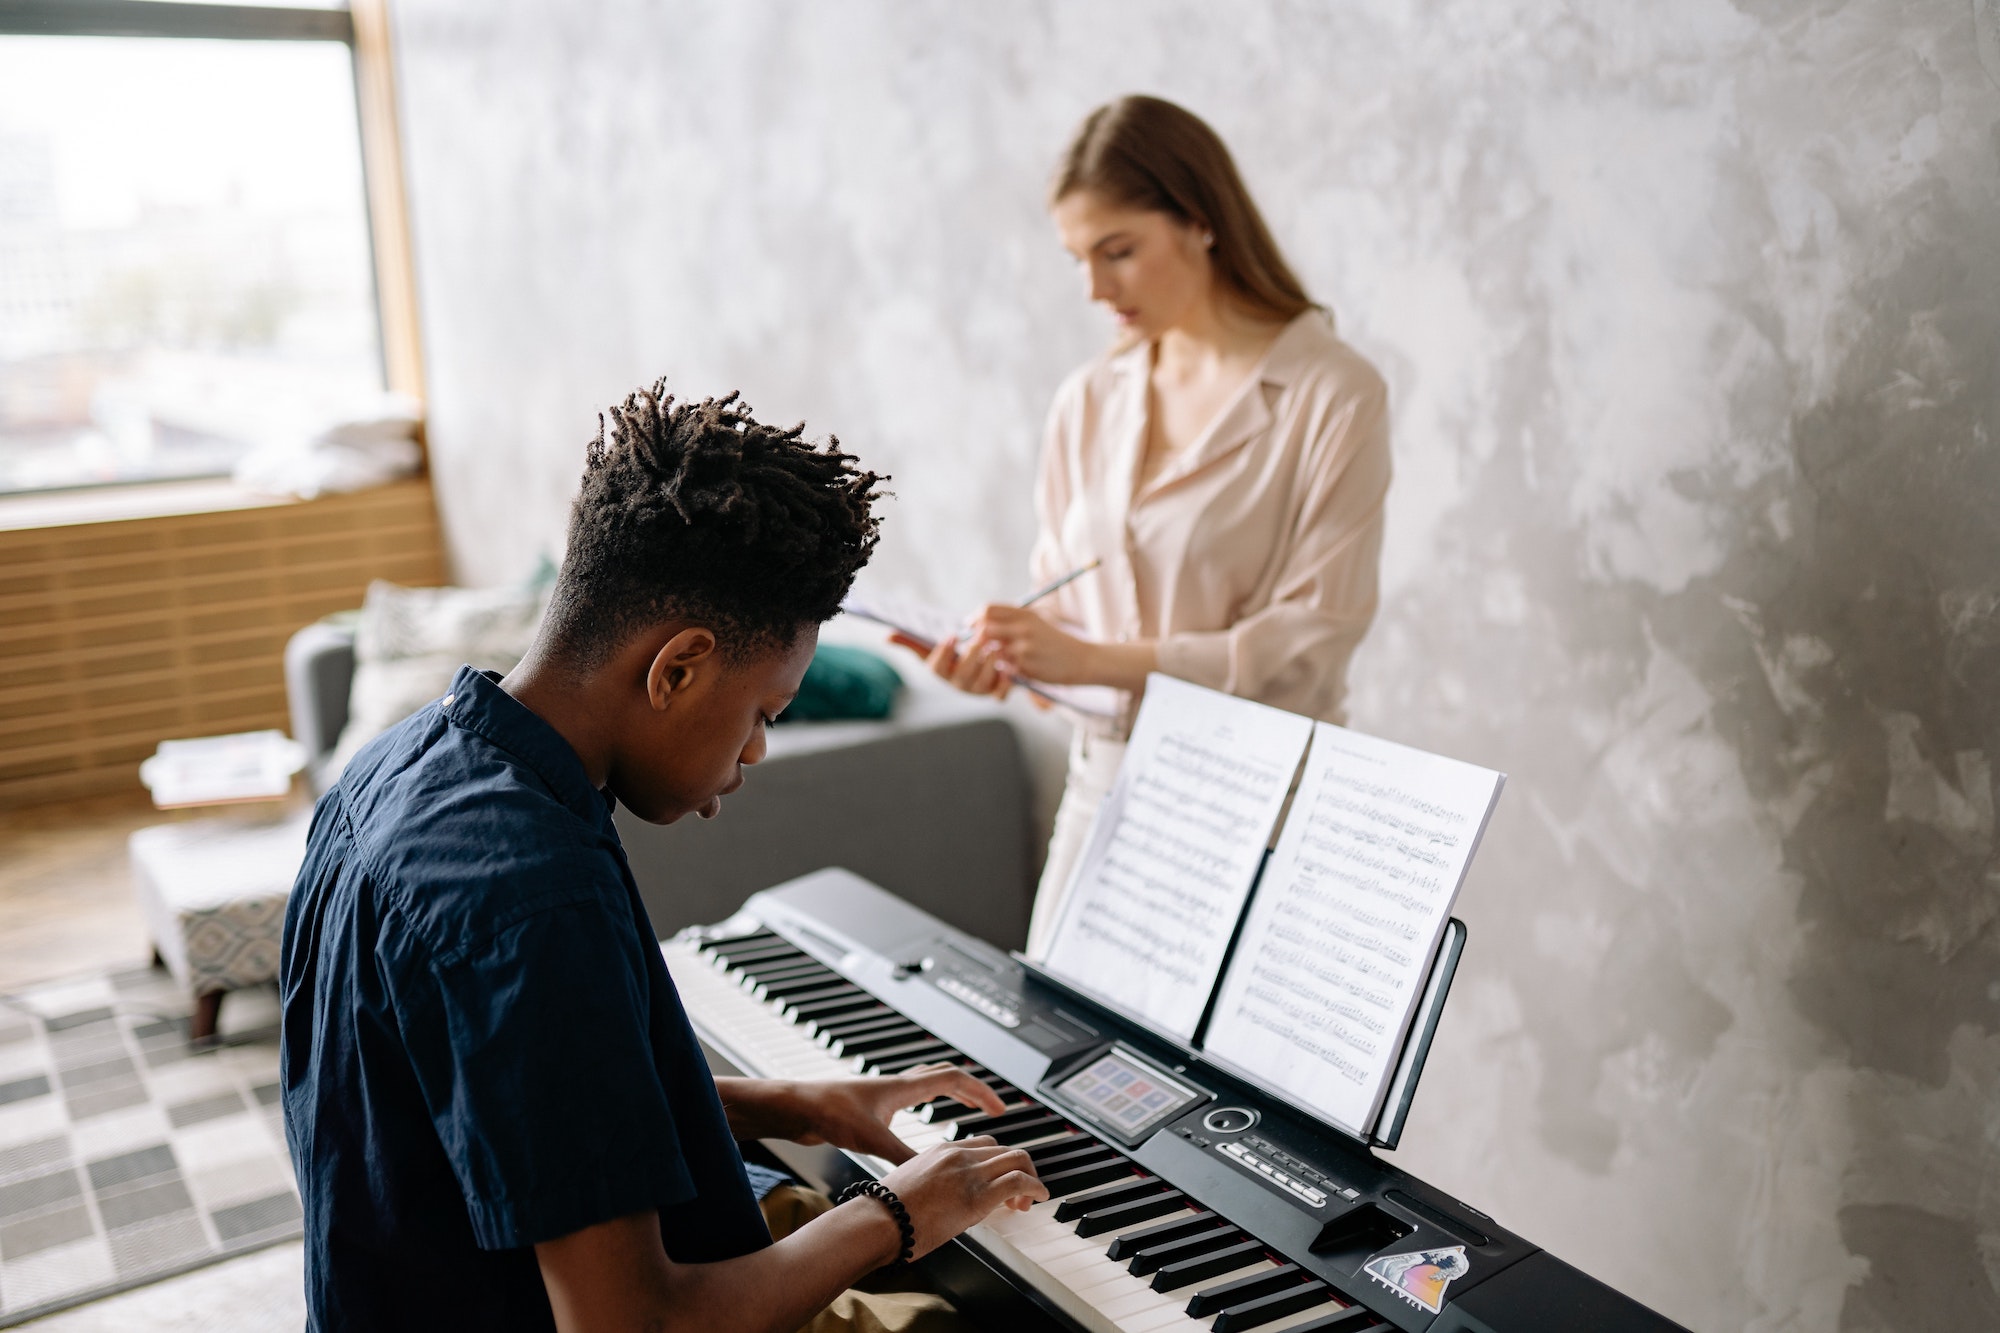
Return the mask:
<svg viewBox="0 0 2000 1333">
<path fill-rule="evenodd" d="M 824 1079 L 954 1061 L 1000 1093 L 998 1117 L 938 1101 L 892 1125 L 918 1151 L 994 1135 L 1024 1147 L 1048 1185 L 1048 1203 L 996 1211 L 930 1267 L 992 1327 L 1678 1327 L 846 871 L 758 893 L 662 949 L 718 1073 Z M 828 1149 L 786 1159 L 828 1187 L 888 1169 Z M 980 1309 L 998 1299 L 1012 1301 L 1004 1315 Z"/>
</svg>

